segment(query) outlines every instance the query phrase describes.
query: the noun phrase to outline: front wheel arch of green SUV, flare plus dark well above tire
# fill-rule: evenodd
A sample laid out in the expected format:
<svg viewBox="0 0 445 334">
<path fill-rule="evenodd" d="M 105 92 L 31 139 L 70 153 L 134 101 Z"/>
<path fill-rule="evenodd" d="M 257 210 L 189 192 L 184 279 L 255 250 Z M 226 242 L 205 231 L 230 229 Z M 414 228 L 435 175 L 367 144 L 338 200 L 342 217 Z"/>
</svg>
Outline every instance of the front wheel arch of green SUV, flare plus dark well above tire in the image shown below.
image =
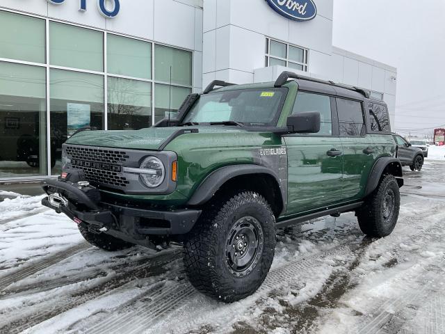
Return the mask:
<svg viewBox="0 0 445 334">
<path fill-rule="evenodd" d="M 187 205 L 204 205 L 216 193 L 232 189 L 257 191 L 266 198 L 275 216 L 284 212 L 287 193 L 280 186 L 278 175 L 270 168 L 251 164 L 225 166 L 213 171 L 197 187 Z"/>
</svg>

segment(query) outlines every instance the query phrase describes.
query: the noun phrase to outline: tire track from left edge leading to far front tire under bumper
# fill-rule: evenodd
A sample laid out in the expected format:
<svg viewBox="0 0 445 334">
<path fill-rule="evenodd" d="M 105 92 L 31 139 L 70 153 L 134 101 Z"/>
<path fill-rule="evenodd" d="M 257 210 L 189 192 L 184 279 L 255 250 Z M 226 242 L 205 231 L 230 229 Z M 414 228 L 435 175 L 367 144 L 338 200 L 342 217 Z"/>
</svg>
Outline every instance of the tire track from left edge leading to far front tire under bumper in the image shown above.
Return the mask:
<svg viewBox="0 0 445 334">
<path fill-rule="evenodd" d="M 12 273 L 8 273 L 3 278 L 0 278 L 0 294 L 9 285 L 19 280 L 23 280 L 28 276 L 38 273 L 38 271 L 51 267 L 52 265 L 91 247 L 92 246 L 90 244 L 82 242 L 81 244 L 68 248 L 67 250 L 63 250 L 62 252 L 56 253 L 55 255 L 49 255 L 47 257 L 44 257 L 42 260 L 35 261 L 34 263 L 31 263 L 29 265 L 24 265 L 24 268 L 22 269 L 18 269 L 16 271 L 13 271 Z"/>
</svg>

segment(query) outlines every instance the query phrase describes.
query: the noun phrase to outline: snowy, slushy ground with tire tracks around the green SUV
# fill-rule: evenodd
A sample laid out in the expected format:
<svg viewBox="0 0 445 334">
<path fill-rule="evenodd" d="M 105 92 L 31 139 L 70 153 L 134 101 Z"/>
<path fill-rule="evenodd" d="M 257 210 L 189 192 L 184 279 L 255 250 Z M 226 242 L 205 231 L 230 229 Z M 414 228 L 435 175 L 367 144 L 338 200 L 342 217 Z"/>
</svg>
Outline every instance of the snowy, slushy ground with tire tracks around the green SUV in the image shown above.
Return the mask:
<svg viewBox="0 0 445 334">
<path fill-rule="evenodd" d="M 405 168 L 389 237 L 353 214 L 279 230 L 266 281 L 230 305 L 191 287 L 180 248 L 107 253 L 40 198 L 4 200 L 0 333 L 445 333 L 442 152 Z"/>
</svg>

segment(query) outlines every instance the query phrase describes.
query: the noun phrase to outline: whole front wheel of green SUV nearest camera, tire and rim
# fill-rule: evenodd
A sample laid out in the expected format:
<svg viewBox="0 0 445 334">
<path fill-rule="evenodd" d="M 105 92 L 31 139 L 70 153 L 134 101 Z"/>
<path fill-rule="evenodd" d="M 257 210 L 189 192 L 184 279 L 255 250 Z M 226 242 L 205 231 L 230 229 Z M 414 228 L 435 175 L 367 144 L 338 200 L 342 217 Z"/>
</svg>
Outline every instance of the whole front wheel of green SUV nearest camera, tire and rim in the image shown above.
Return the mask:
<svg viewBox="0 0 445 334">
<path fill-rule="evenodd" d="M 184 244 L 188 280 L 232 303 L 263 283 L 275 254 L 275 216 L 264 197 L 245 191 L 213 200 Z"/>
</svg>

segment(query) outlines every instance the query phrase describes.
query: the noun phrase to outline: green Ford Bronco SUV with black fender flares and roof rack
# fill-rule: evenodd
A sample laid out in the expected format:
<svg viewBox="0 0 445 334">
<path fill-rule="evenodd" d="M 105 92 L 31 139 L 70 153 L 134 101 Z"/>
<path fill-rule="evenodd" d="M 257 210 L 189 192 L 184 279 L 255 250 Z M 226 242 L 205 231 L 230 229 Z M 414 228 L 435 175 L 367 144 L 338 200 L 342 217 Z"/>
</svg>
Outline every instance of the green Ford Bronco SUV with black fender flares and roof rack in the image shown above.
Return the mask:
<svg viewBox="0 0 445 334">
<path fill-rule="evenodd" d="M 364 90 L 291 72 L 213 81 L 175 119 L 69 138 L 42 203 L 105 250 L 181 243 L 191 283 L 229 303 L 266 278 L 277 228 L 355 212 L 364 234 L 390 234 L 395 154 L 387 106 Z"/>
</svg>

